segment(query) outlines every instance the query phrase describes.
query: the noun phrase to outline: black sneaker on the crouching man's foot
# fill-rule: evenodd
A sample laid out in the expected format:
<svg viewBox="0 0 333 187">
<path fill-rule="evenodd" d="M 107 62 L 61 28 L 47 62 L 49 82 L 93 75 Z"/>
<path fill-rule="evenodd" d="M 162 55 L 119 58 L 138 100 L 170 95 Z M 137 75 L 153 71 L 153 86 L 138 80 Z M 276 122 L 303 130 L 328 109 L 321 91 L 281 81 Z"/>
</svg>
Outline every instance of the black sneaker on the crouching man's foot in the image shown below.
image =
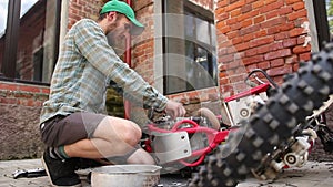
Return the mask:
<svg viewBox="0 0 333 187">
<path fill-rule="evenodd" d="M 81 180 L 75 173 L 75 159 L 54 159 L 48 150 L 42 156 L 43 167 L 49 176 L 50 183 L 56 187 L 81 187 Z"/>
</svg>

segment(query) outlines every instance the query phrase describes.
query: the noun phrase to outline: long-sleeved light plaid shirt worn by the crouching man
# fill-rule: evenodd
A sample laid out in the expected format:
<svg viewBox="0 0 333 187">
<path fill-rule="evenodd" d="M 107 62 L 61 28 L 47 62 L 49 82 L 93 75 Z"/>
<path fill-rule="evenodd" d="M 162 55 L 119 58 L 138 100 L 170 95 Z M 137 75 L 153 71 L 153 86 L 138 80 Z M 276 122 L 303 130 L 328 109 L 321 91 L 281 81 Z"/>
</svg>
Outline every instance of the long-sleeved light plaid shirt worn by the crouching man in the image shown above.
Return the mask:
<svg viewBox="0 0 333 187">
<path fill-rule="evenodd" d="M 111 81 L 122 87 L 124 97 L 132 102 L 158 111 L 167 105 L 168 98 L 115 54 L 97 22 L 89 19 L 77 22 L 62 44 L 40 123 L 74 112 L 105 113 Z"/>
</svg>

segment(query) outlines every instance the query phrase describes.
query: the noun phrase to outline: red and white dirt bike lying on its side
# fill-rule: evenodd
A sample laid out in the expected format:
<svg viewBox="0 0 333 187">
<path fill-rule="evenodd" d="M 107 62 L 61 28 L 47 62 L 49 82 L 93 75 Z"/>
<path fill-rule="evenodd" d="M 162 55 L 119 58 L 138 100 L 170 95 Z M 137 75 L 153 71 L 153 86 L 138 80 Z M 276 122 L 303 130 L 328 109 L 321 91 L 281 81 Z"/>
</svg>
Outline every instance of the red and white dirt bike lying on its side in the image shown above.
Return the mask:
<svg viewBox="0 0 333 187">
<path fill-rule="evenodd" d="M 142 147 L 167 172 L 196 172 L 189 184 L 193 187 L 235 186 L 249 173 L 260 179 L 276 178 L 283 169 L 302 167 L 317 137 L 332 152 L 333 132 L 324 115 L 333 100 L 332 49 L 329 44 L 314 54 L 282 86 L 262 70 L 249 73 L 245 83 L 252 89 L 224 100 L 230 124 L 208 108 L 176 120 L 151 115 Z M 313 113 L 324 101 L 326 106 Z M 234 112 L 232 106 L 240 102 L 246 107 Z"/>
</svg>

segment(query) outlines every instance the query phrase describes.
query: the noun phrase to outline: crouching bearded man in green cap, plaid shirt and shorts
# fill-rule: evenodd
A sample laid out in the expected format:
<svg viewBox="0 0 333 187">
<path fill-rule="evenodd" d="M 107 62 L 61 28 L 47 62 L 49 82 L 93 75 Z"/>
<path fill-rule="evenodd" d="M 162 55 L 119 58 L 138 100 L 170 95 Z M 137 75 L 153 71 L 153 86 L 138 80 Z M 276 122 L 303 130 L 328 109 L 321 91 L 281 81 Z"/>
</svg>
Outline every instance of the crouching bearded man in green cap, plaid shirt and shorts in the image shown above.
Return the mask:
<svg viewBox="0 0 333 187">
<path fill-rule="evenodd" d="M 107 2 L 98 22 L 83 19 L 68 32 L 44 102 L 40 128 L 47 149 L 42 162 L 53 186 L 80 186 L 74 173 L 78 158 L 124 156 L 125 163 L 153 164 L 139 148 L 141 129 L 133 122 L 104 113 L 107 86 L 112 81 L 132 101 L 172 117 L 183 116 L 182 104 L 168 100 L 123 63 L 108 44 L 144 27 L 124 2 Z"/>
</svg>

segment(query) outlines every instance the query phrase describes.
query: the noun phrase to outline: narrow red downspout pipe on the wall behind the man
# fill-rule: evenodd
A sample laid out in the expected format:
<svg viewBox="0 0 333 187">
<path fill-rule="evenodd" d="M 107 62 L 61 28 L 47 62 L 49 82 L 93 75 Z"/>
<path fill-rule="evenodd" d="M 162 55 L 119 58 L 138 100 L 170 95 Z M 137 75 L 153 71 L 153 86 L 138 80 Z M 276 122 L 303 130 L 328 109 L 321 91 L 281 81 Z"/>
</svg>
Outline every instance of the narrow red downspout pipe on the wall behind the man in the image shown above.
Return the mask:
<svg viewBox="0 0 333 187">
<path fill-rule="evenodd" d="M 132 0 L 127 0 L 127 3 L 132 7 Z M 131 37 L 129 35 L 125 41 L 125 62 L 130 67 L 132 67 L 132 46 L 131 46 Z M 129 120 L 131 114 L 131 103 L 128 100 L 124 100 L 124 118 Z"/>
</svg>

